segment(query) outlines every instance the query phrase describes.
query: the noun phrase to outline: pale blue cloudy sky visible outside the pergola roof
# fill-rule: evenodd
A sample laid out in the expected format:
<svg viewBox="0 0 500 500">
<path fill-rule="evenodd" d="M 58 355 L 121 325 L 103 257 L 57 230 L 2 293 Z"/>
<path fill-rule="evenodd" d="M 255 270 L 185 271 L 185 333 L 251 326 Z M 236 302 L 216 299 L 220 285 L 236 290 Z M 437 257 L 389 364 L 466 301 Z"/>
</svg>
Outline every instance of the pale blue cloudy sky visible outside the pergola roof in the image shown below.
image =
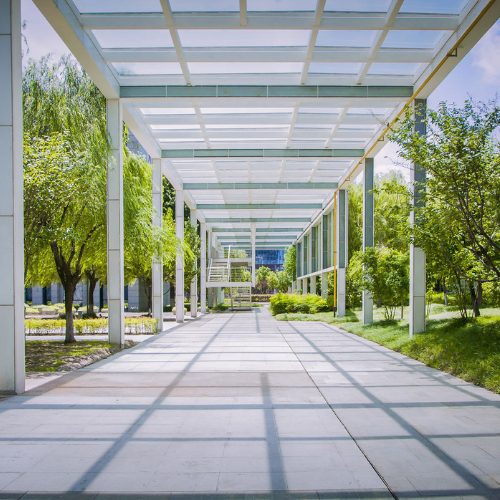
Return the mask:
<svg viewBox="0 0 500 500">
<path fill-rule="evenodd" d="M 29 48 L 27 57 L 39 59 L 51 53 L 59 58 L 70 53 L 32 0 L 22 1 L 22 19 L 26 22 L 24 35 Z M 435 108 L 441 101 L 460 106 L 469 96 L 485 102 L 496 98 L 500 93 L 499 52 L 500 21 L 497 21 L 429 96 L 428 106 Z M 400 169 L 397 162 L 397 149 L 395 145 L 389 143 L 375 157 L 375 172 Z M 402 172 L 405 177 L 408 176 L 406 169 L 402 169 Z"/>
</svg>

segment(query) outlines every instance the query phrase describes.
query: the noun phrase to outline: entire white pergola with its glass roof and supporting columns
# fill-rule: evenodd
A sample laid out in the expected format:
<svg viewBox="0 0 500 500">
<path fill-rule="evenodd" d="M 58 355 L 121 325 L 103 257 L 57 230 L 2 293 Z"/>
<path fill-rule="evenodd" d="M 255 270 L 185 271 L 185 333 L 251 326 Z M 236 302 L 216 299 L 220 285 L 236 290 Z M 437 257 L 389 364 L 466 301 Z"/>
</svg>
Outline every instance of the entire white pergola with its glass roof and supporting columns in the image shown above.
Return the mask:
<svg viewBox="0 0 500 500">
<path fill-rule="evenodd" d="M 347 188 L 364 174 L 373 245 L 374 157 L 388 127 L 497 20 L 495 0 L 35 0 L 107 98 L 108 304 L 123 342 L 122 123 L 201 226 L 207 248 L 297 245 L 296 289 L 336 273 L 345 308 Z M 20 0 L 0 1 L 0 389 L 24 389 Z M 422 127 L 421 127 L 422 128 Z M 424 130 L 420 130 L 424 132 Z M 418 166 L 412 180 L 424 180 Z M 418 203 L 418 193 L 414 202 Z M 208 242 L 208 243 L 207 243 Z M 410 333 L 425 328 L 425 255 L 411 248 Z M 326 282 L 326 280 L 322 280 Z M 183 258 L 177 319 L 183 320 Z M 162 317 L 161 263 L 153 309 Z M 196 296 L 196 284 L 192 292 Z M 372 301 L 363 297 L 364 320 Z"/>
</svg>

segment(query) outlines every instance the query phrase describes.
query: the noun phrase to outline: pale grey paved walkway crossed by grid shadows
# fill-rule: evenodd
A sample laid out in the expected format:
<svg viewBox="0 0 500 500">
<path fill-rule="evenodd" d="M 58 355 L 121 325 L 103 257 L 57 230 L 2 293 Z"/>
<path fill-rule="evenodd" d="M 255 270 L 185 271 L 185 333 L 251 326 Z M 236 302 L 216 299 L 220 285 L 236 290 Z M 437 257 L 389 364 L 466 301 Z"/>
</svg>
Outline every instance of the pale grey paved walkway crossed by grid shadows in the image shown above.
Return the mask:
<svg viewBox="0 0 500 500">
<path fill-rule="evenodd" d="M 210 315 L 0 402 L 0 471 L 0 498 L 500 498 L 500 398 L 320 323 Z"/>
</svg>

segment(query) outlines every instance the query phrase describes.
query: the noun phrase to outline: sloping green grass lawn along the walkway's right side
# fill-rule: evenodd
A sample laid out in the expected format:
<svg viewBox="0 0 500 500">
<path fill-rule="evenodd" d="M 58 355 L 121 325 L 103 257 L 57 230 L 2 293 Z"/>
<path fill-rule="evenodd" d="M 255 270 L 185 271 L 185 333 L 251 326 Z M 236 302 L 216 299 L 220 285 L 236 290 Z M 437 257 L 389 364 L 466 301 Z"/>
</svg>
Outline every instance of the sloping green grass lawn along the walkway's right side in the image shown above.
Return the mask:
<svg viewBox="0 0 500 500">
<path fill-rule="evenodd" d="M 375 309 L 374 323 L 364 326 L 359 321 L 360 314 L 360 311 L 349 311 L 345 318 L 334 318 L 332 312 L 278 314 L 276 319 L 324 321 L 337 325 L 433 368 L 500 393 L 500 309 L 483 309 L 481 317 L 463 324 L 456 311 L 435 305 L 427 331 L 413 339 L 408 337 L 405 320 L 384 321 L 382 311 Z"/>
</svg>

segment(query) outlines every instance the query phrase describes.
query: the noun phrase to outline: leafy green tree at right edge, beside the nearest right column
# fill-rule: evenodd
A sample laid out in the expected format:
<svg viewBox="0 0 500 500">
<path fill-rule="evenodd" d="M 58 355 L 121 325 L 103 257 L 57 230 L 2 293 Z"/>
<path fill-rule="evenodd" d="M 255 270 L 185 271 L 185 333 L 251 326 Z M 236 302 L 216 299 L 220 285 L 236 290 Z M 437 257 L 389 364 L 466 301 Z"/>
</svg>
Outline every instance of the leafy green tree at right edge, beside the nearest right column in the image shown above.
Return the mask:
<svg viewBox="0 0 500 500">
<path fill-rule="evenodd" d="M 421 114 L 421 110 L 417 112 Z M 467 288 L 478 314 L 478 286 L 483 281 L 500 280 L 500 159 L 496 134 L 500 108 L 495 103 L 476 104 L 469 99 L 462 108 L 441 103 L 437 110 L 428 110 L 420 118 L 427 125 L 426 135 L 414 132 L 415 120 L 408 114 L 391 137 L 401 157 L 421 165 L 428 174 L 425 205 L 416 213 L 415 242 L 448 267 L 447 274 L 455 275 L 455 281 L 469 282 Z M 442 241 L 447 242 L 447 259 L 432 253 L 431 242 L 441 246 L 437 251 L 440 254 Z"/>
</svg>

